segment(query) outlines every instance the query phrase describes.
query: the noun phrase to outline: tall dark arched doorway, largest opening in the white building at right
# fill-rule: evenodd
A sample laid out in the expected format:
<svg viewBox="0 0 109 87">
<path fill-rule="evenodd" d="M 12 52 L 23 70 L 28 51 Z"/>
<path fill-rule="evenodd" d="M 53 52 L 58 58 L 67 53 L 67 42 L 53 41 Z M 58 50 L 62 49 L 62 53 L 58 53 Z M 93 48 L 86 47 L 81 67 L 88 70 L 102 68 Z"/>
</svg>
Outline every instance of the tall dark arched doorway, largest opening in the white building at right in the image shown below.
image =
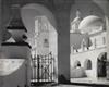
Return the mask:
<svg viewBox="0 0 109 87">
<path fill-rule="evenodd" d="M 107 76 L 107 52 L 100 53 L 97 59 L 97 74 L 98 77 Z"/>
</svg>

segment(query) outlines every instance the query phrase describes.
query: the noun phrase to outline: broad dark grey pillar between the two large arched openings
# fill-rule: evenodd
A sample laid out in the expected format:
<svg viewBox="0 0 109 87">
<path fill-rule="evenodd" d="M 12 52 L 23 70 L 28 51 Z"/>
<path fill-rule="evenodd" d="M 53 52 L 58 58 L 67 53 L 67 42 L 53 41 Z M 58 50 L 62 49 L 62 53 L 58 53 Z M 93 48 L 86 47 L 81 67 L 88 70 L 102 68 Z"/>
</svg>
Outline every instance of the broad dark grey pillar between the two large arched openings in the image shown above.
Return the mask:
<svg viewBox="0 0 109 87">
<path fill-rule="evenodd" d="M 58 82 L 70 82 L 70 4 L 57 5 Z"/>
</svg>

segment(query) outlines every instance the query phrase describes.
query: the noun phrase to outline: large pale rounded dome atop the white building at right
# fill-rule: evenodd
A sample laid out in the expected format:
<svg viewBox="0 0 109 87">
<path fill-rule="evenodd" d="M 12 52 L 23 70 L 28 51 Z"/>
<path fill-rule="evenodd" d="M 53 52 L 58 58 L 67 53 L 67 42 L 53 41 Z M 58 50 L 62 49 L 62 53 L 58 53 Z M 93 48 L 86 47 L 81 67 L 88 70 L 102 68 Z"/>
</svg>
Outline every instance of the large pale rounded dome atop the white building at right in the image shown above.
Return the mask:
<svg viewBox="0 0 109 87">
<path fill-rule="evenodd" d="M 89 15 L 82 20 L 82 22 L 78 25 L 78 29 L 82 32 L 90 32 L 94 29 L 99 29 L 100 26 L 102 26 L 104 21 L 99 16 Z"/>
</svg>

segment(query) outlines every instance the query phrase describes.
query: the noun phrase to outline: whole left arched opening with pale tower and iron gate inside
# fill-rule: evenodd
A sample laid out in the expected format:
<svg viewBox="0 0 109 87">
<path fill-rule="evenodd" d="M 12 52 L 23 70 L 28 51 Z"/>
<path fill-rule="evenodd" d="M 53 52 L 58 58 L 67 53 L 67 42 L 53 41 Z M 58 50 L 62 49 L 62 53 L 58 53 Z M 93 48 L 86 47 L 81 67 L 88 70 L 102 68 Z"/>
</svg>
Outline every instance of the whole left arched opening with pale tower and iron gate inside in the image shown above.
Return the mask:
<svg viewBox="0 0 109 87">
<path fill-rule="evenodd" d="M 22 8 L 22 18 L 32 46 L 31 82 L 57 82 L 58 34 L 52 13 L 44 5 L 32 3 Z"/>
</svg>

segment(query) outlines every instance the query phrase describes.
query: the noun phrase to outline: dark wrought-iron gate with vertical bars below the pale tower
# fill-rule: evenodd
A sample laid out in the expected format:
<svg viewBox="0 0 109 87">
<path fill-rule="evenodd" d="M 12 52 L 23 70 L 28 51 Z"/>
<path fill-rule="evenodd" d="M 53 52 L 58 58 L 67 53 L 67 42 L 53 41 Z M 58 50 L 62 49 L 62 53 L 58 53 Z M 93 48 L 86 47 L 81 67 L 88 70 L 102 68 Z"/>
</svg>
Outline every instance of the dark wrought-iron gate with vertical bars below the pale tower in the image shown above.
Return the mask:
<svg viewBox="0 0 109 87">
<path fill-rule="evenodd" d="M 33 76 L 32 82 L 53 82 L 55 75 L 55 58 L 52 53 L 47 55 L 37 55 L 33 59 Z"/>
</svg>

